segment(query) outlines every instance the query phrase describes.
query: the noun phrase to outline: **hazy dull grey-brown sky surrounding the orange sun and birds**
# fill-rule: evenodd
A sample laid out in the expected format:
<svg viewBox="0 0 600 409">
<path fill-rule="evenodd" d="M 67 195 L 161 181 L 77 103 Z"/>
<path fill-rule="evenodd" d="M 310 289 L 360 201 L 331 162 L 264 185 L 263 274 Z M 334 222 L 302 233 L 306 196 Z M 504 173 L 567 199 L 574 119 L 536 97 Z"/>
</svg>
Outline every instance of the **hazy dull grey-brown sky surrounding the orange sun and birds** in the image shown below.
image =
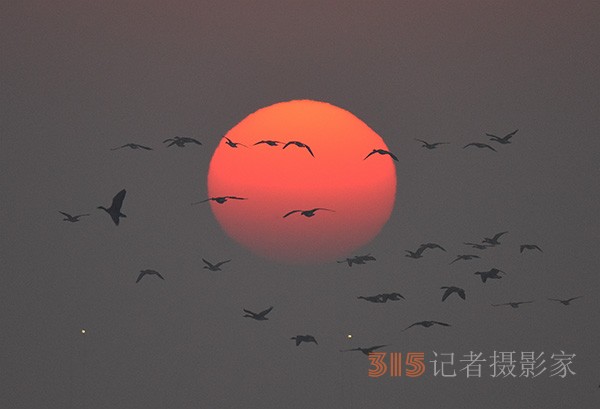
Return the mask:
<svg viewBox="0 0 600 409">
<path fill-rule="evenodd" d="M 595 2 L 5 3 L 0 406 L 600 403 Z M 223 134 L 300 98 L 349 110 L 400 158 L 392 217 L 356 252 L 375 262 L 276 264 L 190 206 Z M 510 145 L 485 136 L 517 128 Z M 203 145 L 167 149 L 177 135 Z M 154 150 L 110 150 L 129 142 Z M 128 217 L 115 227 L 96 207 L 121 189 Z M 92 215 L 67 223 L 59 210 Z M 496 248 L 462 244 L 501 231 Z M 447 253 L 404 257 L 429 241 Z M 519 254 L 523 243 L 543 253 Z M 449 265 L 467 253 L 481 259 Z M 209 272 L 203 257 L 232 261 Z M 506 276 L 474 275 L 492 267 Z M 142 269 L 165 280 L 136 284 Z M 466 301 L 442 303 L 446 285 Z M 406 301 L 356 299 L 382 292 Z M 271 305 L 268 321 L 242 317 Z M 402 332 L 423 320 L 452 326 Z M 296 347 L 298 334 L 319 345 Z M 419 378 L 371 379 L 365 356 L 338 352 L 378 344 L 426 361 L 564 350 L 576 374 L 447 379 L 428 363 Z"/>
</svg>

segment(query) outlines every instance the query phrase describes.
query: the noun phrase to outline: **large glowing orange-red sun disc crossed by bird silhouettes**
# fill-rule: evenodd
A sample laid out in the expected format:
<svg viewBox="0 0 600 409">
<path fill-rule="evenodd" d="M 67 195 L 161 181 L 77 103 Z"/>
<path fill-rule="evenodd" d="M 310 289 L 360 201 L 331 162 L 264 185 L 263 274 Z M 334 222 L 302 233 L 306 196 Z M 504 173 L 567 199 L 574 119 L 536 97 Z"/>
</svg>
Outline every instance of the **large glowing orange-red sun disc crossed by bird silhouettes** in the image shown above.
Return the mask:
<svg viewBox="0 0 600 409">
<path fill-rule="evenodd" d="M 383 139 L 350 112 L 296 100 L 248 115 L 223 138 L 208 172 L 209 197 L 223 230 L 268 259 L 331 261 L 373 239 L 389 219 L 396 172 Z M 274 141 L 274 144 L 258 143 Z M 289 144 L 298 141 L 309 149 Z M 257 144 L 258 143 L 258 144 Z M 242 146 L 245 145 L 245 146 Z M 312 217 L 294 210 L 317 210 Z"/>
</svg>

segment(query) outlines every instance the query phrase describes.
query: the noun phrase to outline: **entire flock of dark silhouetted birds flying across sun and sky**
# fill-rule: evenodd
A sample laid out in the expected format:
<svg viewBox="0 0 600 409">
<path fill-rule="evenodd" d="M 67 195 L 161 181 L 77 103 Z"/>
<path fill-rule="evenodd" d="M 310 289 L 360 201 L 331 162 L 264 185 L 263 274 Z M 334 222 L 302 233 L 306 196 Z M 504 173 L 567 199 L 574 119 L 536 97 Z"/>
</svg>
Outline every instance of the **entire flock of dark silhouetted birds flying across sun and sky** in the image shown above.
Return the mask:
<svg viewBox="0 0 600 409">
<path fill-rule="evenodd" d="M 486 135 L 490 137 L 491 141 L 505 145 L 505 144 L 511 143 L 511 138 L 517 133 L 517 131 L 518 131 L 518 129 L 503 136 L 503 137 L 499 137 L 499 136 L 496 136 L 493 134 L 486 134 Z M 239 143 L 239 142 L 232 141 L 231 139 L 229 139 L 227 137 L 224 137 L 224 139 L 225 139 L 225 143 L 232 149 L 237 149 L 240 146 L 248 148 L 248 146 L 246 146 L 242 143 Z M 436 149 L 437 147 L 439 147 L 441 145 L 448 144 L 447 142 L 429 143 L 429 142 L 421 140 L 421 139 L 416 139 L 416 140 L 423 144 L 422 147 L 429 149 L 429 150 Z M 194 138 L 189 138 L 189 137 L 169 138 L 169 139 L 165 139 L 163 141 L 163 143 L 167 144 L 166 145 L 167 147 L 177 146 L 179 148 L 183 148 L 187 144 L 202 145 L 202 143 L 200 141 L 198 141 Z M 307 153 L 310 154 L 311 157 L 313 157 L 313 158 L 315 157 L 315 154 L 314 154 L 312 148 L 310 146 L 308 146 L 307 144 L 300 142 L 300 141 L 289 141 L 289 142 L 284 143 L 284 142 L 277 141 L 277 140 L 260 140 L 256 143 L 254 143 L 254 145 L 267 145 L 267 146 L 271 146 L 271 147 L 277 147 L 277 146 L 282 145 L 283 149 L 286 149 L 290 146 L 295 146 L 300 149 L 305 149 L 307 151 Z M 471 146 L 476 147 L 476 148 L 491 149 L 493 151 L 496 151 L 496 149 L 494 149 L 492 146 L 485 144 L 485 143 L 479 143 L 479 142 L 468 143 L 463 148 L 467 148 L 467 147 L 471 147 Z M 129 148 L 129 149 L 134 149 L 134 150 L 136 150 L 136 149 L 152 150 L 151 147 L 136 144 L 136 143 L 128 143 L 128 144 L 125 144 L 125 145 L 122 145 L 119 147 L 112 148 L 111 150 L 117 150 L 117 149 L 122 149 L 122 148 Z M 392 158 L 394 161 L 398 161 L 398 158 L 396 155 L 394 155 L 392 152 L 389 152 L 384 149 L 373 149 L 371 152 L 366 154 L 366 156 L 364 157 L 364 160 L 367 160 L 368 158 L 372 157 L 373 155 L 387 155 L 387 156 L 390 156 L 390 158 Z M 111 220 L 113 221 L 113 223 L 116 226 L 119 225 L 121 218 L 127 217 L 121 211 L 121 209 L 123 207 L 123 202 L 125 200 L 125 196 L 126 196 L 126 191 L 125 191 L 125 189 L 123 189 L 123 190 L 119 191 L 113 197 L 112 202 L 108 208 L 104 207 L 104 206 L 98 206 L 98 209 L 104 210 L 110 216 Z M 199 204 L 199 203 L 205 203 L 208 201 L 214 201 L 215 203 L 217 203 L 219 205 L 223 205 L 226 202 L 228 202 L 229 200 L 247 200 L 247 199 L 248 198 L 239 197 L 239 196 L 209 197 L 209 198 L 201 200 L 199 202 L 193 202 L 192 205 Z M 294 210 L 291 210 L 291 211 L 285 213 L 283 215 L 283 218 L 289 217 L 293 214 L 299 214 L 301 216 L 310 218 L 310 217 L 314 217 L 317 214 L 317 212 L 320 212 L 320 211 L 334 212 L 335 210 L 329 209 L 329 208 L 323 208 L 323 207 L 316 207 L 313 209 L 294 209 Z M 63 211 L 60 211 L 60 213 L 65 216 L 65 218 L 63 219 L 64 221 L 71 222 L 71 223 L 80 221 L 80 218 L 82 218 L 82 217 L 90 216 L 89 213 L 76 214 L 76 215 L 71 215 L 71 214 L 63 212 Z M 493 235 L 492 237 L 484 237 L 481 240 L 481 242 L 464 242 L 463 244 L 470 246 L 473 249 L 482 251 L 482 250 L 486 250 L 489 248 L 499 246 L 501 244 L 499 241 L 500 238 L 503 237 L 507 233 L 508 233 L 507 231 L 503 231 L 503 232 Z M 414 251 L 405 250 L 405 252 L 407 253 L 407 254 L 405 254 L 405 256 L 408 258 L 411 258 L 411 259 L 420 259 L 425 256 L 426 252 L 436 250 L 436 249 L 446 252 L 446 249 L 437 243 L 423 243 Z M 523 253 L 524 251 L 534 251 L 534 250 L 543 252 L 542 249 L 537 244 L 530 244 L 530 243 L 521 244 L 519 246 L 519 249 L 520 249 L 520 253 Z M 469 261 L 469 260 L 480 259 L 480 258 L 481 257 L 478 254 L 458 254 L 452 261 L 450 261 L 449 264 L 453 264 L 458 261 Z M 230 262 L 231 260 L 224 260 L 224 261 L 219 261 L 217 263 L 212 263 L 203 258 L 202 261 L 206 264 L 203 268 L 208 269 L 209 271 L 221 271 L 221 266 L 223 266 L 225 263 Z M 348 267 L 352 267 L 353 265 L 366 264 L 369 261 L 376 261 L 376 258 L 374 256 L 372 256 L 371 254 L 365 254 L 365 255 L 349 257 L 344 260 L 338 260 L 337 263 L 347 264 Z M 487 271 L 476 271 L 474 274 L 478 275 L 483 283 L 486 283 L 488 280 L 501 279 L 502 275 L 505 275 L 506 273 L 500 269 L 491 268 L 490 270 L 487 270 Z M 502 274 L 502 275 L 500 275 L 500 274 Z M 160 274 L 160 272 L 151 270 L 151 269 L 145 269 L 145 270 L 141 270 L 139 272 L 136 283 L 140 282 L 144 277 L 151 276 L 151 275 L 157 276 L 159 279 L 162 279 L 162 280 L 165 279 Z M 462 300 L 466 300 L 466 292 L 463 288 L 460 288 L 457 286 L 442 286 L 442 287 L 440 287 L 440 290 L 443 290 L 443 293 L 441 296 L 442 302 L 446 301 L 446 299 L 448 299 L 448 297 L 452 296 L 453 294 L 456 294 L 456 297 L 458 297 Z M 579 298 L 581 298 L 581 296 L 571 297 L 571 298 L 567 298 L 567 299 L 548 298 L 548 300 L 559 302 L 559 303 L 567 306 L 567 305 L 570 305 L 570 303 L 572 301 L 579 299 Z M 397 292 L 381 293 L 381 294 L 376 294 L 376 295 L 360 295 L 357 297 L 357 299 L 364 300 L 364 301 L 370 302 L 370 303 L 386 303 L 388 301 L 392 302 L 392 301 L 406 300 L 406 298 L 402 294 L 397 293 Z M 505 303 L 500 303 L 500 304 L 491 304 L 491 305 L 494 307 L 510 306 L 512 308 L 519 308 L 523 304 L 530 304 L 533 302 L 534 302 L 533 300 L 510 301 L 510 302 L 505 302 Z M 267 321 L 269 319 L 268 314 L 272 310 L 273 310 L 273 306 L 270 306 L 260 312 L 253 312 L 249 309 L 243 308 L 243 312 L 245 313 L 245 315 L 243 315 L 243 317 L 250 318 L 250 319 L 253 319 L 256 321 Z M 414 322 L 411 325 L 407 326 L 403 331 L 406 331 L 410 328 L 417 327 L 417 326 L 429 328 L 429 327 L 436 326 L 436 325 L 442 326 L 442 327 L 450 327 L 451 326 L 450 324 L 441 322 L 441 321 L 425 320 L 425 321 Z M 314 335 L 311 335 L 311 334 L 296 335 L 294 337 L 291 337 L 291 340 L 293 340 L 295 342 L 296 346 L 299 346 L 302 343 L 314 343 L 314 344 L 318 345 L 317 339 L 315 338 Z M 368 355 L 372 351 L 374 351 L 378 348 L 383 348 L 385 346 L 387 346 L 387 345 L 375 345 L 375 346 L 371 346 L 371 347 L 358 347 L 358 348 L 341 350 L 341 352 L 358 351 L 358 352 L 362 352 L 365 355 Z"/>
</svg>

